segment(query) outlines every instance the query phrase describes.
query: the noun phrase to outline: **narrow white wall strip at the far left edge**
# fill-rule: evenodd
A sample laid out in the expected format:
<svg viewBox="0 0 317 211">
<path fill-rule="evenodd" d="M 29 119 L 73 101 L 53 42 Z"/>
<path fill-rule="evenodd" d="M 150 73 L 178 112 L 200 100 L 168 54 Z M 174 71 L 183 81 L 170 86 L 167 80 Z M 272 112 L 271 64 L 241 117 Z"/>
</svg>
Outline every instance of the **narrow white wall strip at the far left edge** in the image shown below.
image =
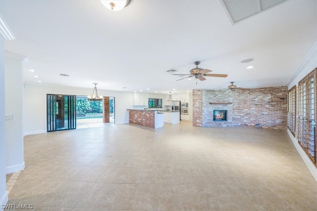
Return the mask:
<svg viewBox="0 0 317 211">
<path fill-rule="evenodd" d="M 4 103 L 4 38 L 0 36 L 0 205 L 8 201 L 5 190 L 5 103 Z M 2 211 L 2 206 L 0 208 Z"/>
</svg>

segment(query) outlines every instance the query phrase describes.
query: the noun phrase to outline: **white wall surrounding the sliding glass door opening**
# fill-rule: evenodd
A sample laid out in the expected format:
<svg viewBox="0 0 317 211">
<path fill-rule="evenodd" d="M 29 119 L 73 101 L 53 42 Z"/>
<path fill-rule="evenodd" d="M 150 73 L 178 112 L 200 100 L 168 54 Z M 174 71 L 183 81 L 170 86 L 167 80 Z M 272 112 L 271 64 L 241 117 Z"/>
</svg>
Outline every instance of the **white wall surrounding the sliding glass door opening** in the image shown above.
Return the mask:
<svg viewBox="0 0 317 211">
<path fill-rule="evenodd" d="M 46 94 L 90 95 L 93 88 L 93 85 L 91 88 L 78 88 L 26 83 L 24 87 L 24 135 L 47 132 Z M 115 97 L 115 124 L 129 123 L 127 109 L 132 109 L 133 92 L 98 89 L 98 93 L 102 96 Z"/>
</svg>

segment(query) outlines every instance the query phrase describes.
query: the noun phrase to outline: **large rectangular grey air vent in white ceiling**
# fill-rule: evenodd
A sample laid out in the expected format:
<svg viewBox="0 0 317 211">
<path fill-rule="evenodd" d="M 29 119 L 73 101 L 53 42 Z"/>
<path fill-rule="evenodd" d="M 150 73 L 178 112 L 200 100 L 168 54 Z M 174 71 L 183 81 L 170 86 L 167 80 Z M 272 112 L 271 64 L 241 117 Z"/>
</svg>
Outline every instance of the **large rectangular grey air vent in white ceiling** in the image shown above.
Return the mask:
<svg viewBox="0 0 317 211">
<path fill-rule="evenodd" d="M 286 0 L 218 0 L 233 25 Z"/>
</svg>

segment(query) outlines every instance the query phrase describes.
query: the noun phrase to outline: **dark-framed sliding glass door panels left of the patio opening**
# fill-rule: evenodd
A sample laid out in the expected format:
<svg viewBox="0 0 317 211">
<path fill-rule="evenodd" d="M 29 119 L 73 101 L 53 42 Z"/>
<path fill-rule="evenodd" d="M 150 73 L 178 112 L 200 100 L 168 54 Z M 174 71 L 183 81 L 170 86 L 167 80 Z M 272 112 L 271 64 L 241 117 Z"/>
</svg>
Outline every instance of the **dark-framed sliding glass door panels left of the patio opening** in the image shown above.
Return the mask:
<svg viewBox="0 0 317 211">
<path fill-rule="evenodd" d="M 76 96 L 47 94 L 47 131 L 76 129 Z"/>
</svg>

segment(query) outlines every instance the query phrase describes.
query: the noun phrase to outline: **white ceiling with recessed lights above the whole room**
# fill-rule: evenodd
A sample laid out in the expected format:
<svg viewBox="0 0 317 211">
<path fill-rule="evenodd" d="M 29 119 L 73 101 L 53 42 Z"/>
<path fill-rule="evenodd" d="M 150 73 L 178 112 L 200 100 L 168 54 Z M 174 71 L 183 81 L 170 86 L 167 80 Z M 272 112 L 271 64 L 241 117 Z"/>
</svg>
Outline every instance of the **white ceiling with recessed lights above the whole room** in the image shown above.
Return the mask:
<svg viewBox="0 0 317 211">
<path fill-rule="evenodd" d="M 0 14 L 16 38 L 6 52 L 28 58 L 26 84 L 159 93 L 280 86 L 317 42 L 316 0 L 286 0 L 234 25 L 216 0 L 132 0 L 117 12 L 99 0 L 0 0 Z M 166 72 L 189 74 L 194 61 L 228 77 L 196 84 Z"/>
</svg>

